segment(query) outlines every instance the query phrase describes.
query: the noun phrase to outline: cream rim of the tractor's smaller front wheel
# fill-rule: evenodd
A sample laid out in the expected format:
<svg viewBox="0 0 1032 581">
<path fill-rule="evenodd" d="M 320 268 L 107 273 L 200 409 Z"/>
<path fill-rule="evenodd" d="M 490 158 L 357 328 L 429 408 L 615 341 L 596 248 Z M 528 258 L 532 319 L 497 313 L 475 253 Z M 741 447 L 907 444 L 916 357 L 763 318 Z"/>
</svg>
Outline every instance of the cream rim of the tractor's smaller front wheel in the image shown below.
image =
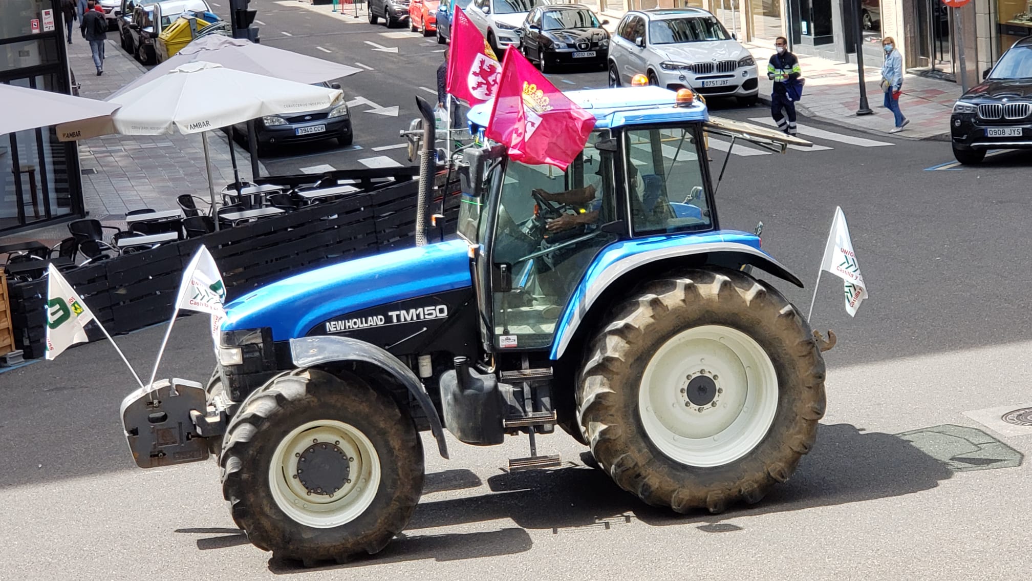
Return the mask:
<svg viewBox="0 0 1032 581">
<path fill-rule="evenodd" d="M 292 520 L 331 528 L 358 518 L 380 489 L 380 456 L 361 430 L 336 420 L 308 422 L 276 447 L 272 499 Z"/>
</svg>

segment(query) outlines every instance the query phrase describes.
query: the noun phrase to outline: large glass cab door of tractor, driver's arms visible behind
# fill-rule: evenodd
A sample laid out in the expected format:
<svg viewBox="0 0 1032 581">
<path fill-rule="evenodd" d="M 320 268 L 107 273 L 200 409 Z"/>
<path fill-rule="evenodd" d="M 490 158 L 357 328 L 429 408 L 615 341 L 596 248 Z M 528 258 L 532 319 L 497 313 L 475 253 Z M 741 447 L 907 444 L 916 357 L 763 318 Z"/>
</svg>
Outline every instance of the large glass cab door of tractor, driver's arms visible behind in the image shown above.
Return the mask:
<svg viewBox="0 0 1032 581">
<path fill-rule="evenodd" d="M 566 172 L 506 164 L 491 249 L 495 347 L 550 345 L 591 258 L 615 239 L 601 230 L 615 219 L 614 154 L 594 149 L 608 135 L 591 133 Z"/>
</svg>

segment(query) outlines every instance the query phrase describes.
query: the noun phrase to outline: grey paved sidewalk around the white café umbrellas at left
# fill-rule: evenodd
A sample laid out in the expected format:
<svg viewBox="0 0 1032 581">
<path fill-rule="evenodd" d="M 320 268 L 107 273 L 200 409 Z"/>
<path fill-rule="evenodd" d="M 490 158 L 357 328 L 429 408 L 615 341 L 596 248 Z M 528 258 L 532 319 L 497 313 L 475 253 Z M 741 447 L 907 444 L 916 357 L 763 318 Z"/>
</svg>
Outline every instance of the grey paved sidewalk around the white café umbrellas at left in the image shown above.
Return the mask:
<svg viewBox="0 0 1032 581">
<path fill-rule="evenodd" d="M 68 65 L 82 85 L 79 96 L 103 99 L 147 72 L 143 65 L 122 50 L 115 32 L 107 33 L 104 53 L 104 73 L 97 77 L 89 42 L 77 32 L 72 35 L 72 43 L 68 45 Z M 233 181 L 227 141 L 222 131 L 208 133 L 216 192 Z M 251 158 L 248 151 L 235 144 L 234 147 L 240 179 L 250 180 Z M 178 209 L 175 197 L 183 193 L 204 200 L 209 197 L 199 133 L 105 135 L 78 142 L 78 151 L 83 200 L 88 217 L 98 219 L 104 225 L 124 228 L 125 215 L 129 210 Z M 260 162 L 259 170 L 266 175 Z M 56 244 L 67 236 L 68 227 L 59 224 L 0 240 L 40 240 Z"/>
</svg>

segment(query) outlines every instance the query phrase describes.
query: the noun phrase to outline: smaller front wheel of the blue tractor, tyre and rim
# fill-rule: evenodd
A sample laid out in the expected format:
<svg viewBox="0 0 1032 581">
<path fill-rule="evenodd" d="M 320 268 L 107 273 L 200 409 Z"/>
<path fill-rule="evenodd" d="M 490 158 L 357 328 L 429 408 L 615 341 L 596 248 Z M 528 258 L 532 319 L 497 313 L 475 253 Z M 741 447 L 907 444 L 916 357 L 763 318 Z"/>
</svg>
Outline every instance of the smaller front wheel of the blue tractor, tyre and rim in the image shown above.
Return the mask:
<svg viewBox="0 0 1032 581">
<path fill-rule="evenodd" d="M 220 458 L 233 520 L 258 548 L 305 567 L 377 553 L 423 488 L 412 418 L 355 376 L 302 369 L 240 406 Z"/>
</svg>

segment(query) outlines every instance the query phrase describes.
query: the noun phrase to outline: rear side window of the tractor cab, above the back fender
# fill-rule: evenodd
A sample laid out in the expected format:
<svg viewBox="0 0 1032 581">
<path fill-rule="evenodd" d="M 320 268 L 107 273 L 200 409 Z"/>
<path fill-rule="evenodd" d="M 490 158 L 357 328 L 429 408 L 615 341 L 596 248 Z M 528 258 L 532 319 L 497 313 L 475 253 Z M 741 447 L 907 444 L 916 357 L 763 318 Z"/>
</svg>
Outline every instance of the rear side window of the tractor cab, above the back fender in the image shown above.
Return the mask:
<svg viewBox="0 0 1032 581">
<path fill-rule="evenodd" d="M 636 235 L 712 227 L 701 137 L 695 125 L 626 132 L 624 174 Z"/>
</svg>

